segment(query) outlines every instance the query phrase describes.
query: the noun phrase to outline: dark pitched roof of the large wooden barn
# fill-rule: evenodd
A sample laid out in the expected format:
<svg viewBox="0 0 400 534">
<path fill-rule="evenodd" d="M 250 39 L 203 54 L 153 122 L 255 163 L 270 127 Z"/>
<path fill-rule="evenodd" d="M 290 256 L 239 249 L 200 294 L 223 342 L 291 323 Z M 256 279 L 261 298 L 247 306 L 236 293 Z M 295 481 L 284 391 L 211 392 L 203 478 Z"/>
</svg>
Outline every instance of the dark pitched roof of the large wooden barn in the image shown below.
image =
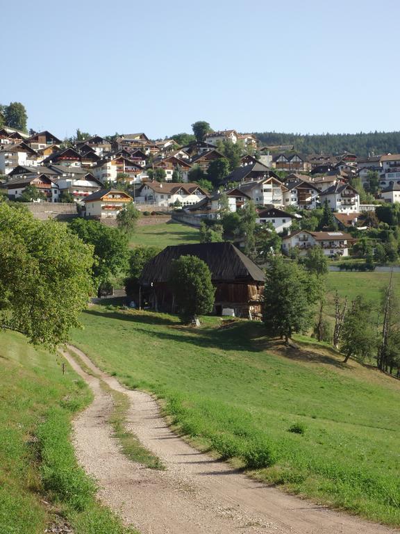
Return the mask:
<svg viewBox="0 0 400 534">
<path fill-rule="evenodd" d="M 168 282 L 172 260 L 196 256 L 206 262 L 213 282 L 264 282 L 263 271 L 232 243 L 198 243 L 165 248 L 144 267 L 140 284 Z"/>
</svg>

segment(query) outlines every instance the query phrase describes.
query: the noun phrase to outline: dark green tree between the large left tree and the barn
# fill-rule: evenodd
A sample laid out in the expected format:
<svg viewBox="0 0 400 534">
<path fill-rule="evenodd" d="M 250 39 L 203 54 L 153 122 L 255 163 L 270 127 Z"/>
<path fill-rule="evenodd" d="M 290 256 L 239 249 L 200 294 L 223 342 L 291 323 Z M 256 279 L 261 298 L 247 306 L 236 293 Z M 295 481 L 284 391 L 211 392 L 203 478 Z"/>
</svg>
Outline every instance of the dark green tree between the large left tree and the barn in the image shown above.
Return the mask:
<svg viewBox="0 0 400 534">
<path fill-rule="evenodd" d="M 69 227 L 84 243 L 94 247 L 92 277 L 100 296 L 101 284 L 110 282 L 111 276 L 127 267 L 128 237 L 118 228 L 108 227 L 97 220 L 76 218 Z"/>
</svg>

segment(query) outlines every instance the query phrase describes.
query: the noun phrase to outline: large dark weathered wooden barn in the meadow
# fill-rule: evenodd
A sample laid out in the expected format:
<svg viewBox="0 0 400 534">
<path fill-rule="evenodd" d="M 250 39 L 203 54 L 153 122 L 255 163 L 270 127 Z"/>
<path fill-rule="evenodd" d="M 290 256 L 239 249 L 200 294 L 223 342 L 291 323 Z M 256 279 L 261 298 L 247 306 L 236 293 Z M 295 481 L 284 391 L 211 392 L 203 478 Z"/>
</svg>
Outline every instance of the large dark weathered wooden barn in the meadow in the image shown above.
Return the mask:
<svg viewBox="0 0 400 534">
<path fill-rule="evenodd" d="M 157 254 L 145 266 L 139 280 L 142 298 L 151 307 L 178 311 L 169 279 L 172 261 L 184 255 L 200 258 L 210 269 L 215 287 L 215 314 L 231 314 L 228 310 L 239 317 L 260 314 L 265 275 L 232 243 L 169 246 Z"/>
</svg>

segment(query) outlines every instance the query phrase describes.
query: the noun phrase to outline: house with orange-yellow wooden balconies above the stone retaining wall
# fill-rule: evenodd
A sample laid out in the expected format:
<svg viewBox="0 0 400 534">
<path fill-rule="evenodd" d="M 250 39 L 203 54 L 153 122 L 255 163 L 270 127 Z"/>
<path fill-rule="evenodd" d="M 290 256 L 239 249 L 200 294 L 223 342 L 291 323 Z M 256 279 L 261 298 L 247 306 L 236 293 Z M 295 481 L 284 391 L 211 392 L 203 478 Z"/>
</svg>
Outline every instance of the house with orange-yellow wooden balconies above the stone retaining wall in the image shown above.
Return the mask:
<svg viewBox="0 0 400 534">
<path fill-rule="evenodd" d="M 133 202 L 133 198 L 119 189 L 101 189 L 83 199 L 86 217 L 115 219 L 122 209 Z"/>
</svg>

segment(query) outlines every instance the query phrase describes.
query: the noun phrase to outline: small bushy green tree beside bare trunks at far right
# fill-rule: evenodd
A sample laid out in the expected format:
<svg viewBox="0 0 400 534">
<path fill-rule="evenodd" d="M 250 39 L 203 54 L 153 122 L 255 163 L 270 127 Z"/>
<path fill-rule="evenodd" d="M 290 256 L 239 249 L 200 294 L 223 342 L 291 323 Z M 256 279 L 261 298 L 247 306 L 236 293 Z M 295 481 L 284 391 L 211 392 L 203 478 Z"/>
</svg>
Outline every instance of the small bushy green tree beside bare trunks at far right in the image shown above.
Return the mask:
<svg viewBox="0 0 400 534">
<path fill-rule="evenodd" d="M 376 330 L 371 319 L 371 304 L 362 296 L 351 302 L 351 308 L 344 316 L 340 350 L 344 363 L 350 358 L 364 361 L 376 354 Z"/>
</svg>

